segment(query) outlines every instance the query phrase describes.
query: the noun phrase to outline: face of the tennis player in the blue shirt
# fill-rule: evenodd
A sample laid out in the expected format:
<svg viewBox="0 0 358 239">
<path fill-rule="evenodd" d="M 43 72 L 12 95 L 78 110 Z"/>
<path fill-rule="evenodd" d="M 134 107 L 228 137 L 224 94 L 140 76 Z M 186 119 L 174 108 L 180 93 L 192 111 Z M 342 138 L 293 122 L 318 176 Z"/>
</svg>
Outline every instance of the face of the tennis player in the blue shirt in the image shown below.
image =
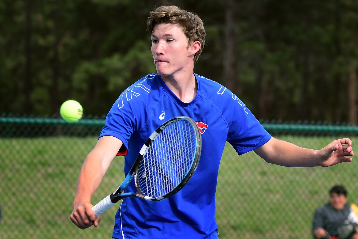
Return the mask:
<svg viewBox="0 0 358 239">
<path fill-rule="evenodd" d="M 156 24 L 151 39 L 154 64 L 160 76 L 193 71 L 193 57 L 198 50 L 195 45 L 189 47 L 188 38 L 179 24 Z"/>
</svg>

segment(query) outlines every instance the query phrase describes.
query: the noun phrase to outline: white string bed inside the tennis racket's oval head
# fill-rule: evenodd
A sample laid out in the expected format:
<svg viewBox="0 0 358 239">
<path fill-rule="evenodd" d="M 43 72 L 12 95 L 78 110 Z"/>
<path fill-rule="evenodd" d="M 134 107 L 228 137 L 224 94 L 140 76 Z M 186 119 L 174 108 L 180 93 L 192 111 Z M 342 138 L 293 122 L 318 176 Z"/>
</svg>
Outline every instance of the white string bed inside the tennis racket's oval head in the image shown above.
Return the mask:
<svg viewBox="0 0 358 239">
<path fill-rule="evenodd" d="M 196 146 L 195 129 L 187 120 L 177 121 L 158 134 L 139 167 L 142 193 L 160 197 L 173 191 L 189 173 Z"/>
</svg>

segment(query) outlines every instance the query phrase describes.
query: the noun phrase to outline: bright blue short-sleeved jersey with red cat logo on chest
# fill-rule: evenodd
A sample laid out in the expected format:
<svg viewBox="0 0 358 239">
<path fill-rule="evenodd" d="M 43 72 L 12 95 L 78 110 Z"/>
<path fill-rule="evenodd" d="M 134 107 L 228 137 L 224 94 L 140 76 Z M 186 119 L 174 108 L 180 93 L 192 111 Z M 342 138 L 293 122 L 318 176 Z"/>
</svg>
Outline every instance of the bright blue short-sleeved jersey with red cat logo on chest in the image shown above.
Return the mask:
<svg viewBox="0 0 358 239">
<path fill-rule="evenodd" d="M 122 200 L 115 218 L 115 238 L 204 239 L 217 234 L 215 192 L 226 142 L 240 155 L 271 138 L 232 92 L 215 81 L 194 75 L 198 91 L 189 103 L 180 101 L 155 73 L 126 89 L 106 117 L 100 137 L 111 135 L 123 142 L 127 149 L 125 174 L 149 135 L 166 120 L 189 116 L 202 134 L 200 162 L 189 183 L 162 201 Z M 136 191 L 134 182 L 126 191 Z"/>
</svg>

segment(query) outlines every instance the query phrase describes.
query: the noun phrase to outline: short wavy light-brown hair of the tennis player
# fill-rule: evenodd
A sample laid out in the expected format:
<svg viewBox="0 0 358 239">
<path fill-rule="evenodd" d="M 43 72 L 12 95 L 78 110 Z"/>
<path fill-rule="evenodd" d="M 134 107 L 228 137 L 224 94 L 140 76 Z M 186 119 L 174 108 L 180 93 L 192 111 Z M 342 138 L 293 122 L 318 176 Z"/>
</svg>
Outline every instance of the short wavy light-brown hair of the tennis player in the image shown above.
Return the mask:
<svg viewBox="0 0 358 239">
<path fill-rule="evenodd" d="M 182 26 L 185 36 L 188 38 L 188 44 L 199 41 L 201 46 L 197 53 L 194 55 L 194 63 L 199 59 L 205 46 L 205 29 L 204 23 L 200 17 L 195 13 L 190 13 L 178 6 L 160 6 L 153 11 L 150 11 L 147 20 L 147 29 L 150 34 L 153 33 L 155 24 L 161 23 L 178 23 Z"/>
</svg>

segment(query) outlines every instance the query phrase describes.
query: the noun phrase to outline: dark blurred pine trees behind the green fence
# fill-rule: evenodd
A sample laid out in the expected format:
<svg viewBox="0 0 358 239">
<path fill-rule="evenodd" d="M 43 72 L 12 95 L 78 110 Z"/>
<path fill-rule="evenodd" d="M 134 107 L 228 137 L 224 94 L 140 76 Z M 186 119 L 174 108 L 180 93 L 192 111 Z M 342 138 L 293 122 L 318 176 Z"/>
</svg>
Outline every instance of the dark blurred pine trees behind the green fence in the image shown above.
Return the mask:
<svg viewBox="0 0 358 239">
<path fill-rule="evenodd" d="M 353 0 L 2 0 L 0 112 L 59 113 L 67 99 L 103 115 L 155 71 L 146 30 L 163 4 L 197 13 L 207 43 L 195 72 L 261 119 L 357 124 Z"/>
</svg>

